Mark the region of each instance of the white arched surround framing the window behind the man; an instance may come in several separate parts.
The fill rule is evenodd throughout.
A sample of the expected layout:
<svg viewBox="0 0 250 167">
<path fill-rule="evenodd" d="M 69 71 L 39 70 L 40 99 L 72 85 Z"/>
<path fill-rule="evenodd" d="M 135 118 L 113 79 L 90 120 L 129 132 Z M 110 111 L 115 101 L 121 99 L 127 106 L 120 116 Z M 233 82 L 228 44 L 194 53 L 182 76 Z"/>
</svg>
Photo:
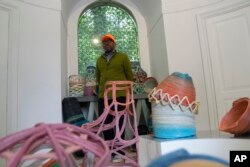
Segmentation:
<svg viewBox="0 0 250 167">
<path fill-rule="evenodd" d="M 78 74 L 78 43 L 77 43 L 77 28 L 78 28 L 78 18 L 82 11 L 86 9 L 89 5 L 96 2 L 95 0 L 90 0 L 88 3 L 79 2 L 71 14 L 67 22 L 67 74 L 75 75 Z M 133 6 L 133 4 L 128 3 L 126 0 L 120 0 L 119 3 L 125 6 L 134 16 L 137 22 L 138 28 L 138 46 L 139 46 L 139 57 L 140 65 L 151 75 L 150 70 L 150 57 L 149 57 L 149 47 L 148 47 L 148 34 L 147 34 L 147 24 L 140 10 Z"/>
</svg>

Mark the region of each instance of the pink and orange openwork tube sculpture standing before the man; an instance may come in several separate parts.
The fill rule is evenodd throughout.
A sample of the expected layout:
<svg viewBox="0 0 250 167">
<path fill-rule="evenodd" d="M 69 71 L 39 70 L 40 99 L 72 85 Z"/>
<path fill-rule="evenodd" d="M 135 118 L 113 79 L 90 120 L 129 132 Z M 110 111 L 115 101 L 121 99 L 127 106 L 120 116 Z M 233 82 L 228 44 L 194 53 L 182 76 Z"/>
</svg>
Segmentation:
<svg viewBox="0 0 250 167">
<path fill-rule="evenodd" d="M 116 101 L 116 92 L 123 91 L 126 94 L 126 102 L 119 103 Z M 112 102 L 108 104 L 108 99 L 112 99 Z M 106 141 L 110 147 L 111 154 L 119 155 L 124 159 L 125 166 L 139 166 L 138 155 L 135 158 L 128 156 L 128 148 L 132 145 L 136 145 L 138 153 L 138 141 L 139 135 L 137 131 L 136 112 L 133 97 L 133 82 L 131 81 L 109 81 L 105 85 L 104 91 L 104 112 L 95 121 L 84 124 L 82 127 L 88 129 L 96 134 L 100 135 L 103 131 L 108 129 L 115 130 L 115 137 L 112 140 Z M 118 105 L 125 106 L 124 110 L 117 111 Z M 114 110 L 112 110 L 114 108 Z M 110 114 L 114 117 L 113 121 L 109 124 L 105 124 L 107 115 Z M 124 118 L 123 125 L 119 127 L 119 120 Z M 125 127 L 132 134 L 131 139 L 123 139 L 121 136 L 125 132 Z M 121 152 L 124 153 L 121 154 Z"/>
</svg>

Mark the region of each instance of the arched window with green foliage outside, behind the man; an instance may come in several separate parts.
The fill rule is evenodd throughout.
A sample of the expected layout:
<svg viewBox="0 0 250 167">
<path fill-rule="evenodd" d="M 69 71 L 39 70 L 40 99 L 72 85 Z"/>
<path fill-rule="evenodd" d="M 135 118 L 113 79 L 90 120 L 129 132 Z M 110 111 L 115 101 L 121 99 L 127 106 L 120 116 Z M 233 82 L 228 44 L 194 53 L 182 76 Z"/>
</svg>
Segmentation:
<svg viewBox="0 0 250 167">
<path fill-rule="evenodd" d="M 111 33 L 116 49 L 126 53 L 131 62 L 139 62 L 138 31 L 135 19 L 124 6 L 114 2 L 97 2 L 88 6 L 78 20 L 78 73 L 85 75 L 87 66 L 95 66 L 102 53 L 99 39 Z"/>
</svg>

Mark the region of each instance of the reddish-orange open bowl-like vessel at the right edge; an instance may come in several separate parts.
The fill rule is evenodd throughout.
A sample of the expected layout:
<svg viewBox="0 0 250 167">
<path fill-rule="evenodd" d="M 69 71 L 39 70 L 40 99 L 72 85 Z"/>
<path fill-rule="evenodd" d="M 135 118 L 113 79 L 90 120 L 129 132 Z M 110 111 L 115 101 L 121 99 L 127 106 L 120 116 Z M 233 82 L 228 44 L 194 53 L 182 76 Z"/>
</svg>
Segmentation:
<svg viewBox="0 0 250 167">
<path fill-rule="evenodd" d="M 249 98 L 239 98 L 233 102 L 232 108 L 221 119 L 219 130 L 236 135 L 250 132 Z"/>
</svg>

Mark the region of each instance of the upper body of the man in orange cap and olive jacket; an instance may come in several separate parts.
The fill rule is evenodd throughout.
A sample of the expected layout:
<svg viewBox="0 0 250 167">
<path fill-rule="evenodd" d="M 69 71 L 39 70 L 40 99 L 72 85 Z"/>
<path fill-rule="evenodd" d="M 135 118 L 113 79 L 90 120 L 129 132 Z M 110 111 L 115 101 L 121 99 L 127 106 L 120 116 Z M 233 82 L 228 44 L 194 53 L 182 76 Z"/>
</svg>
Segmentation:
<svg viewBox="0 0 250 167">
<path fill-rule="evenodd" d="M 107 81 L 133 80 L 131 63 L 128 56 L 115 50 L 115 37 L 106 34 L 101 38 L 104 54 L 96 61 L 96 80 L 99 86 L 99 98 L 103 98 Z"/>
</svg>

